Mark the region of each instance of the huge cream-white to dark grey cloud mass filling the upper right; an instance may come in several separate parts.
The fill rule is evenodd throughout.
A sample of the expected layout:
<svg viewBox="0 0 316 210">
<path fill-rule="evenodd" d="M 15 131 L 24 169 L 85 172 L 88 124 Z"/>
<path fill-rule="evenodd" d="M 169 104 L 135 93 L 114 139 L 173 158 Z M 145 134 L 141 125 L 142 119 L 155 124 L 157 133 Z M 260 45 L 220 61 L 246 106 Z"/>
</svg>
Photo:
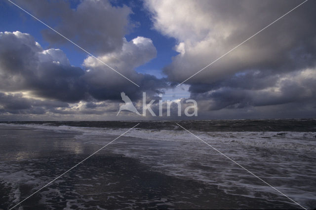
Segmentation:
<svg viewBox="0 0 316 210">
<path fill-rule="evenodd" d="M 151 13 L 154 28 L 178 42 L 175 50 L 179 54 L 164 73 L 171 82 L 180 83 L 299 3 L 183 0 L 179 5 L 169 0 L 146 0 L 145 8 Z M 296 111 L 303 106 L 315 111 L 315 6 L 314 1 L 306 2 L 189 79 L 186 84 L 190 85 L 191 98 L 199 101 L 199 110 L 239 113 L 253 107 L 292 104 Z M 283 112 L 286 117 L 288 112 Z"/>
</svg>

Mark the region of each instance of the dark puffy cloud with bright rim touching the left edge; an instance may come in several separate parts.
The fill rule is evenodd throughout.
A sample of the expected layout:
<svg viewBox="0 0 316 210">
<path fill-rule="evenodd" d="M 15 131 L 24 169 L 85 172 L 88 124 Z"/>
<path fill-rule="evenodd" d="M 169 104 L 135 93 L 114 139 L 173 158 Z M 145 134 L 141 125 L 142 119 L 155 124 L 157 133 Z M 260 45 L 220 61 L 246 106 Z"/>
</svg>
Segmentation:
<svg viewBox="0 0 316 210">
<path fill-rule="evenodd" d="M 0 46 L 2 91 L 29 90 L 40 97 L 65 102 L 84 97 L 84 71 L 62 63 L 66 57 L 63 53 L 51 57 L 52 51 L 60 50 L 43 51 L 32 36 L 20 32 L 0 33 Z"/>
</svg>

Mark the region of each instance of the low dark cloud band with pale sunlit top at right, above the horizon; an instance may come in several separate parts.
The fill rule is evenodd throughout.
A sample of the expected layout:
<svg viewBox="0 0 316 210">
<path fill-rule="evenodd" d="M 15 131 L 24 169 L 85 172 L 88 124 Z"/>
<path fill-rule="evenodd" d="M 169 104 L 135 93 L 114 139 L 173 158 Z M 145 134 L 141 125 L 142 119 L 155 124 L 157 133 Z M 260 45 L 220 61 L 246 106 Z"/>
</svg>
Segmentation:
<svg viewBox="0 0 316 210">
<path fill-rule="evenodd" d="M 244 108 L 250 106 L 283 105 L 287 103 L 316 104 L 316 72 L 305 70 L 287 75 L 288 79 L 278 80 L 278 85 L 271 89 L 255 89 L 256 85 L 242 85 L 246 80 L 242 77 L 230 82 L 223 81 L 217 86 L 191 86 L 191 97 L 198 101 L 209 100 L 207 109 Z M 269 77 L 266 78 L 269 83 Z M 260 79 L 259 79 L 260 81 Z M 273 81 L 273 85 L 276 81 Z M 236 86 L 237 85 L 237 86 Z M 209 91 L 205 91 L 209 90 Z"/>
</svg>

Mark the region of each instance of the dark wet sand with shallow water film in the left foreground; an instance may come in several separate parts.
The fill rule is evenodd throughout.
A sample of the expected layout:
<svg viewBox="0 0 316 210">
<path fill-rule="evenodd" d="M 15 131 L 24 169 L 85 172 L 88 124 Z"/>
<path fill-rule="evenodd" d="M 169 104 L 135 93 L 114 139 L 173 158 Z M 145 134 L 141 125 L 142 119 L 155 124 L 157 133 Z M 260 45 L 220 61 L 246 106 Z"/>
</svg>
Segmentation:
<svg viewBox="0 0 316 210">
<path fill-rule="evenodd" d="M 0 130 L 0 208 L 2 209 L 14 206 L 98 150 L 102 144 L 115 139 L 111 135 L 95 137 L 90 135 L 91 139 L 79 140 L 78 136 L 83 134 L 78 131 L 55 131 L 21 126 L 1 126 Z M 242 170 L 235 168 L 232 163 L 223 158 L 219 159 L 216 155 L 209 157 L 208 162 L 214 163 L 210 165 L 220 164 L 223 168 L 227 168 L 231 175 L 239 173 L 241 177 L 247 177 L 245 179 L 248 180 L 250 190 L 246 189 L 247 187 L 236 188 L 233 182 L 231 189 L 227 186 L 221 188 L 212 183 L 212 176 L 209 175 L 204 175 L 203 178 L 209 177 L 210 180 L 203 181 L 203 178 L 181 174 L 179 171 L 178 175 L 170 173 L 172 170 L 170 163 L 167 162 L 171 157 L 174 162 L 185 162 L 184 165 L 189 172 L 191 170 L 196 171 L 197 174 L 212 174 L 217 171 L 215 166 L 203 164 L 207 158 L 203 152 L 200 152 L 201 156 L 198 159 L 195 156 L 190 157 L 190 150 L 186 145 L 191 148 L 192 145 L 188 144 L 190 143 L 149 142 L 133 137 L 121 137 L 20 206 L 30 210 L 298 209 L 298 206 L 286 198 L 276 196 L 276 192 L 267 188 L 255 177 L 248 176 Z M 180 147 L 182 149 L 179 149 Z M 186 161 L 185 158 L 180 158 L 181 154 L 172 152 L 177 148 L 182 150 L 182 156 L 188 156 L 187 160 L 192 161 Z M 201 148 L 208 150 L 203 146 Z M 133 151 L 134 156 L 131 155 Z M 170 154 L 157 155 L 163 153 Z M 199 156 L 198 150 L 196 153 Z M 214 155 L 213 151 L 210 152 L 212 153 Z M 268 190 L 262 192 L 255 190 L 251 195 L 249 191 L 252 183 Z M 227 190 L 234 193 L 228 193 Z M 310 204 L 313 205 L 313 202 L 310 201 Z"/>
</svg>

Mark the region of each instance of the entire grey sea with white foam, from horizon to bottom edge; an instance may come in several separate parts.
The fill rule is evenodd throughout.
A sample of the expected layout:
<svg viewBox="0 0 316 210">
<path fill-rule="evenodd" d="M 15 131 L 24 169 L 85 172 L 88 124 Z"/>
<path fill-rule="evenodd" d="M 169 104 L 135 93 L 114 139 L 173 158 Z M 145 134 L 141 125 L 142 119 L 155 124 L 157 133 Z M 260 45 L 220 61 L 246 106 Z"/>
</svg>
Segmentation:
<svg viewBox="0 0 316 210">
<path fill-rule="evenodd" d="M 0 122 L 11 208 L 316 209 L 316 119 Z"/>
</svg>

